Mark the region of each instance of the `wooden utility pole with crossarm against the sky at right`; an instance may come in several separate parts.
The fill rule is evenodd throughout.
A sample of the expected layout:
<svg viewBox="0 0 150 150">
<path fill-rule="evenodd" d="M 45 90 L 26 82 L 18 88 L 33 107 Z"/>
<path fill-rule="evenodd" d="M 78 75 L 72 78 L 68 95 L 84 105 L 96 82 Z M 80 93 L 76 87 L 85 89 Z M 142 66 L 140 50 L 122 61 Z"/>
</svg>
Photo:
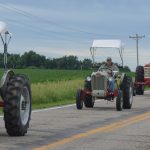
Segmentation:
<svg viewBox="0 0 150 150">
<path fill-rule="evenodd" d="M 137 66 L 139 66 L 139 47 L 138 47 L 139 46 L 139 40 L 142 38 L 145 38 L 145 35 L 139 36 L 138 34 L 136 34 L 135 36 L 129 36 L 129 38 L 136 40 Z"/>
</svg>

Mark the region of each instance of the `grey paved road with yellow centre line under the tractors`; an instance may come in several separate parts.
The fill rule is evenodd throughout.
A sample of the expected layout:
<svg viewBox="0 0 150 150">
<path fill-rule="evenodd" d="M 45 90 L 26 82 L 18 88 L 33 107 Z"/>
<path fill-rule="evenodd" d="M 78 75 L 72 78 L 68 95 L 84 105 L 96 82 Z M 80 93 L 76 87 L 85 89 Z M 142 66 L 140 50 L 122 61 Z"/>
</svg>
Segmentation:
<svg viewBox="0 0 150 150">
<path fill-rule="evenodd" d="M 75 105 L 32 113 L 28 134 L 9 137 L 0 118 L 0 150 L 150 150 L 150 92 L 134 97 L 133 108 L 115 103 L 93 109 Z"/>
</svg>

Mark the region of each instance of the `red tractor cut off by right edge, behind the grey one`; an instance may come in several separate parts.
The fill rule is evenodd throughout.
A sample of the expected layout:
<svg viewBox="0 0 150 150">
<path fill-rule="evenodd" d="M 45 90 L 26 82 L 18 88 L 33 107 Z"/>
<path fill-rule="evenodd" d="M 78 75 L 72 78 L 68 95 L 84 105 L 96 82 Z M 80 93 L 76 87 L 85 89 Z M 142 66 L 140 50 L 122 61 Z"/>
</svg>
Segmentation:
<svg viewBox="0 0 150 150">
<path fill-rule="evenodd" d="M 150 87 L 150 63 L 137 66 L 134 87 L 137 95 L 144 95 L 145 86 Z"/>
</svg>

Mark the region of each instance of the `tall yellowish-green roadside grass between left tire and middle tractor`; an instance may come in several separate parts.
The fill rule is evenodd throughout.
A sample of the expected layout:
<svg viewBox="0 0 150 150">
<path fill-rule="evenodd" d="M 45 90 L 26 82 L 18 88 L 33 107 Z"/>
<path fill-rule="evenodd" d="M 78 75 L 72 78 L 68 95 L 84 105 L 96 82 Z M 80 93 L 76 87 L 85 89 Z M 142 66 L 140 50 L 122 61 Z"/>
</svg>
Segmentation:
<svg viewBox="0 0 150 150">
<path fill-rule="evenodd" d="M 33 108 L 46 108 L 75 102 L 76 90 L 83 87 L 82 79 L 32 84 Z"/>
</svg>

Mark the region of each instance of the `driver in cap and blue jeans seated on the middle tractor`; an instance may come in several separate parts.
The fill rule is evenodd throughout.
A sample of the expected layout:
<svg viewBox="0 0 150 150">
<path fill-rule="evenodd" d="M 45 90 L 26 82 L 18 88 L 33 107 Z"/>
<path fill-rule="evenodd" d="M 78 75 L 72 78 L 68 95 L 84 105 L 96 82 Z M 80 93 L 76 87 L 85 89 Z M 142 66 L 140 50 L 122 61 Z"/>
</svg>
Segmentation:
<svg viewBox="0 0 150 150">
<path fill-rule="evenodd" d="M 99 69 L 102 69 L 102 68 L 108 68 L 112 71 L 119 71 L 119 68 L 112 62 L 111 57 L 107 57 L 106 63 L 101 65 L 101 67 Z M 114 90 L 115 90 L 115 80 L 114 80 L 114 75 L 112 74 L 109 77 L 108 91 L 114 92 Z"/>
</svg>

